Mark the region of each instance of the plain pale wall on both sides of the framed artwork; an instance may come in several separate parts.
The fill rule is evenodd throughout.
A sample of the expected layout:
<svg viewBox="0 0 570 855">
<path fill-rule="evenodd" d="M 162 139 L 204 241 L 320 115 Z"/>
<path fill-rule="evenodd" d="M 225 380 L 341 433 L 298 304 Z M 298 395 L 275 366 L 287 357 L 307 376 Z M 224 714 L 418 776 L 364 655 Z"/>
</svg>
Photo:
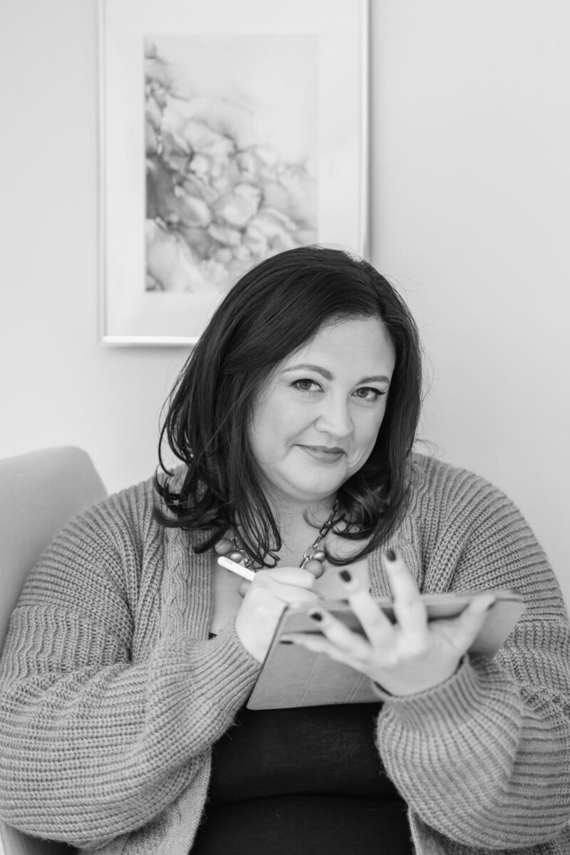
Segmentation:
<svg viewBox="0 0 570 855">
<path fill-rule="evenodd" d="M 0 456 L 82 445 L 115 490 L 185 351 L 97 343 L 95 0 L 2 0 L 0 32 Z M 422 435 L 514 498 L 570 603 L 570 8 L 373 0 L 371 55 L 371 260 L 432 363 Z"/>
</svg>

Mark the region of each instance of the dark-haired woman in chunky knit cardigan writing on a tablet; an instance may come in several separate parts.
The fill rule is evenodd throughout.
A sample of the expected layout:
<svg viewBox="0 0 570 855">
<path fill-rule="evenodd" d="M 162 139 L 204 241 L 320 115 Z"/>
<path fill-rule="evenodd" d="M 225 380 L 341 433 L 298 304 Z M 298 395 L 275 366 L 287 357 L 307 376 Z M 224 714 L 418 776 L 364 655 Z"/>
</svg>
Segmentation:
<svg viewBox="0 0 570 855">
<path fill-rule="evenodd" d="M 26 582 L 0 816 L 105 855 L 570 851 L 561 593 L 501 492 L 413 453 L 420 374 L 366 262 L 305 247 L 244 275 L 170 398 L 182 465 L 76 518 Z M 467 652 L 492 596 L 428 624 L 418 593 L 497 587 L 527 608 L 492 662 Z M 372 600 L 390 591 L 395 626 Z M 338 596 L 366 639 L 327 613 Z M 377 704 L 244 709 L 291 603 L 322 630 L 294 640 Z"/>
</svg>

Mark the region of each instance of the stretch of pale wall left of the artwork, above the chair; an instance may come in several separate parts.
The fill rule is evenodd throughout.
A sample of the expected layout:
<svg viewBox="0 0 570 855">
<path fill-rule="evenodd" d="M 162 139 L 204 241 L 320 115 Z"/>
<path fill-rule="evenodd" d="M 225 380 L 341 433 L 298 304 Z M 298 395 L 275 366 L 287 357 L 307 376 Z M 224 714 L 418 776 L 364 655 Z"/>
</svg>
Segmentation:
<svg viewBox="0 0 570 855">
<path fill-rule="evenodd" d="M 0 456 L 73 443 L 148 477 L 180 349 L 97 341 L 95 0 L 0 3 Z"/>
</svg>

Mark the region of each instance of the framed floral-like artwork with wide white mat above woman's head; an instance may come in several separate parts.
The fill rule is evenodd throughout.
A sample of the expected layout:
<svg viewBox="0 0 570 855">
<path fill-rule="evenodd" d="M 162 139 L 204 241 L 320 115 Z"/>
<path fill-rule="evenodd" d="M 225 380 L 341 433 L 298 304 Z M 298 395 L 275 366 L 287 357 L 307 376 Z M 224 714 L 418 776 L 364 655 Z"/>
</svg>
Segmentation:
<svg viewBox="0 0 570 855">
<path fill-rule="evenodd" d="M 238 277 L 367 252 L 367 0 L 98 0 L 101 340 L 191 345 Z"/>
</svg>

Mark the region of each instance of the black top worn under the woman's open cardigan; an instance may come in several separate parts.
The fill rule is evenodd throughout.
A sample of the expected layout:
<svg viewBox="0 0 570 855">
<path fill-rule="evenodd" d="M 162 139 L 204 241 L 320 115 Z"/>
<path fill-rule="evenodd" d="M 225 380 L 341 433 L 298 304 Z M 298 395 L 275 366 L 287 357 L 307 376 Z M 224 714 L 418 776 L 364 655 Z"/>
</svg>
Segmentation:
<svg viewBox="0 0 570 855">
<path fill-rule="evenodd" d="M 380 704 L 247 710 L 214 745 L 192 855 L 411 855 L 374 745 Z"/>
</svg>

